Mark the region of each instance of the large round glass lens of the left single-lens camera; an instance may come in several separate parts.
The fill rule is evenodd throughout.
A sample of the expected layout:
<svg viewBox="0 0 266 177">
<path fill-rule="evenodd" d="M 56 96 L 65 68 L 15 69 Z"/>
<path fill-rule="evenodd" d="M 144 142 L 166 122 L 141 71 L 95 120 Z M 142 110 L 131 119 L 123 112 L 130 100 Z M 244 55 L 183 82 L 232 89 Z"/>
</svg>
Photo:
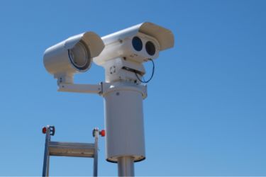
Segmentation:
<svg viewBox="0 0 266 177">
<path fill-rule="evenodd" d="M 72 49 L 69 50 L 70 61 L 77 69 L 87 69 L 91 62 L 89 50 L 83 42 L 79 41 Z"/>
</svg>

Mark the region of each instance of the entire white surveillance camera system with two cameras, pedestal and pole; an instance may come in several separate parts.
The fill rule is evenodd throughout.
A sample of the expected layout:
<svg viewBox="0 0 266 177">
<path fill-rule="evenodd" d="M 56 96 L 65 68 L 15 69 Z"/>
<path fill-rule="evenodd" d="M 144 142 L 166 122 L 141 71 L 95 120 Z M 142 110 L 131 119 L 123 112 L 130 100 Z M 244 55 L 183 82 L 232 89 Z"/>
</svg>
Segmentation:
<svg viewBox="0 0 266 177">
<path fill-rule="evenodd" d="M 82 33 L 45 51 L 45 68 L 59 79 L 58 91 L 104 97 L 106 160 L 118 163 L 119 176 L 133 176 L 133 163 L 145 159 L 143 99 L 147 85 L 143 83 L 147 82 L 141 80 L 143 63 L 153 62 L 162 50 L 173 46 L 170 30 L 146 22 L 102 38 Z M 73 84 L 73 74 L 86 72 L 92 60 L 104 67 L 105 81 Z"/>
</svg>

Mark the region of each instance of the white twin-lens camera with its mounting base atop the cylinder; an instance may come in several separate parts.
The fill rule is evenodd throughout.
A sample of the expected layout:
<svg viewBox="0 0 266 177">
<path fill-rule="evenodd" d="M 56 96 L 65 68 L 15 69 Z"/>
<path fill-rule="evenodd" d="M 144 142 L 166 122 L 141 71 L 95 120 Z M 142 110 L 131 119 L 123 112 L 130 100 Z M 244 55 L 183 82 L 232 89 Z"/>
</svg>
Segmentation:
<svg viewBox="0 0 266 177">
<path fill-rule="evenodd" d="M 106 82 L 134 81 L 143 76 L 143 62 L 156 59 L 159 52 L 174 46 L 170 30 L 154 23 L 140 23 L 101 38 L 104 50 L 93 61 L 105 68 Z"/>
</svg>

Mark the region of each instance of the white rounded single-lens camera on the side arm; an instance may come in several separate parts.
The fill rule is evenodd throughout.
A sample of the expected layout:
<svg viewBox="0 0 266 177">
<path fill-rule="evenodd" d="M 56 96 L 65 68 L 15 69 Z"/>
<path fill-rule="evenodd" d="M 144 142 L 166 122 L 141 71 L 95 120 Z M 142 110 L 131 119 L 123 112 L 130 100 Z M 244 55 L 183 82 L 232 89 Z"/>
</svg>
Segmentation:
<svg viewBox="0 0 266 177">
<path fill-rule="evenodd" d="M 103 49 L 104 42 L 99 35 L 86 32 L 49 47 L 44 52 L 43 64 L 58 79 L 58 83 L 72 84 L 73 75 L 86 72 L 92 64 L 92 58 L 98 56 Z"/>
</svg>

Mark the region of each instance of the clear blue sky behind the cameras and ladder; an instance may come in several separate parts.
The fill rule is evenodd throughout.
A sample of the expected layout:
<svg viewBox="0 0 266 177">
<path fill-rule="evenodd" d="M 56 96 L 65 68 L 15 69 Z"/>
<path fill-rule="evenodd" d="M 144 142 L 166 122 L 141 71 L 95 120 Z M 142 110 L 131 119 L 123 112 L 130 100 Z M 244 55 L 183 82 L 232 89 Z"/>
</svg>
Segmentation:
<svg viewBox="0 0 266 177">
<path fill-rule="evenodd" d="M 40 176 L 45 135 L 93 142 L 103 98 L 57 92 L 43 52 L 71 35 L 150 21 L 175 45 L 155 60 L 136 176 L 266 176 L 266 1 L 1 1 L 0 175 Z M 148 78 L 150 65 L 147 67 Z M 96 64 L 77 83 L 104 81 Z M 116 176 L 99 139 L 99 175 Z M 52 157 L 51 176 L 90 176 L 92 159 Z"/>
</svg>

